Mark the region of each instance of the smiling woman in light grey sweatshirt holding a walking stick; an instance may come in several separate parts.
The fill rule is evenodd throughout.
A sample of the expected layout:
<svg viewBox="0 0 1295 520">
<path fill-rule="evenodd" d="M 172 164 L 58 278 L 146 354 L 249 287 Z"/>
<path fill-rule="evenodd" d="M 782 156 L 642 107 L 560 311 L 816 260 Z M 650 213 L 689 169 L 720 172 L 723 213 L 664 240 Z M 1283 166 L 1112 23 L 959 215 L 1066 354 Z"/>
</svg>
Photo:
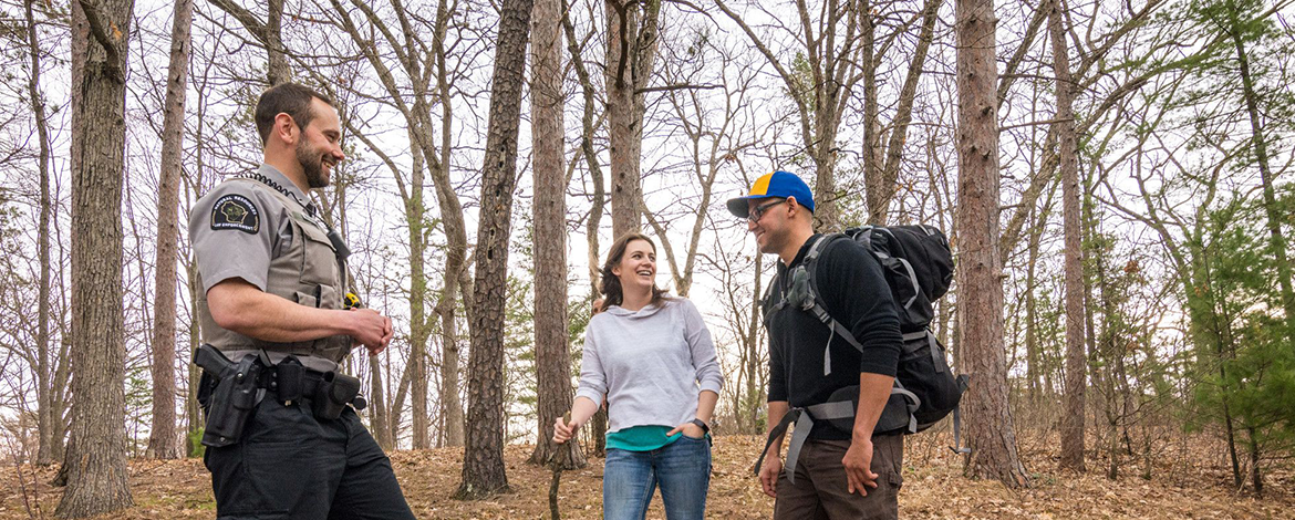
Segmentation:
<svg viewBox="0 0 1295 520">
<path fill-rule="evenodd" d="M 641 234 L 616 239 L 602 265 L 603 303 L 589 320 L 580 388 L 566 442 L 607 398 L 602 515 L 642 519 L 660 485 L 666 517 L 698 520 L 711 482 L 711 414 L 724 376 L 711 332 L 692 301 L 657 288 L 657 246 Z"/>
</svg>

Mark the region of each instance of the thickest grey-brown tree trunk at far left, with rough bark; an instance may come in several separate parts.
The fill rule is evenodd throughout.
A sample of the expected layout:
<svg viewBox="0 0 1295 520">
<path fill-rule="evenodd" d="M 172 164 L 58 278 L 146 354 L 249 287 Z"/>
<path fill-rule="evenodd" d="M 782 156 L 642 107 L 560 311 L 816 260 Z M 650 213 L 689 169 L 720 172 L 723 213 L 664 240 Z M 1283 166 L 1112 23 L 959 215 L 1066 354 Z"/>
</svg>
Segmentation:
<svg viewBox="0 0 1295 520">
<path fill-rule="evenodd" d="M 73 3 L 73 433 L 60 517 L 130 507 L 122 177 L 132 0 Z"/>
</svg>

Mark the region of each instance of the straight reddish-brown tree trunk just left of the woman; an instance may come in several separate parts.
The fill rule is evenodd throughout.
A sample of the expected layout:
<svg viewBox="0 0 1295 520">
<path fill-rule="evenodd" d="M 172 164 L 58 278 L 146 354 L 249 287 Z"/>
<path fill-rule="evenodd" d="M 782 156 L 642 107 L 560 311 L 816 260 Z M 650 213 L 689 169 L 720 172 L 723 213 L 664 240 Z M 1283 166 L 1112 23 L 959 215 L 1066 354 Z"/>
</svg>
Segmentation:
<svg viewBox="0 0 1295 520">
<path fill-rule="evenodd" d="M 535 176 L 535 371 L 537 436 L 532 464 L 557 457 L 584 466 L 575 441 L 553 442 L 553 423 L 571 409 L 567 343 L 566 146 L 562 109 L 562 0 L 536 0 L 531 28 L 531 150 Z"/>
</svg>

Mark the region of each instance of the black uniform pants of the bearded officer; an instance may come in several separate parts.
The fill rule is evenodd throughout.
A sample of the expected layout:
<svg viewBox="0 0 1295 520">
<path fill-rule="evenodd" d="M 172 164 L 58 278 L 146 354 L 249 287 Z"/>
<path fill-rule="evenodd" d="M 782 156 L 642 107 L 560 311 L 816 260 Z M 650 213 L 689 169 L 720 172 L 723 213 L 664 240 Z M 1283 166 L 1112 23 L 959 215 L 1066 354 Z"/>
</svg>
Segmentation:
<svg viewBox="0 0 1295 520">
<path fill-rule="evenodd" d="M 218 520 L 413 519 L 387 458 L 350 406 L 316 419 L 308 400 L 256 405 L 243 439 L 207 448 Z"/>
</svg>

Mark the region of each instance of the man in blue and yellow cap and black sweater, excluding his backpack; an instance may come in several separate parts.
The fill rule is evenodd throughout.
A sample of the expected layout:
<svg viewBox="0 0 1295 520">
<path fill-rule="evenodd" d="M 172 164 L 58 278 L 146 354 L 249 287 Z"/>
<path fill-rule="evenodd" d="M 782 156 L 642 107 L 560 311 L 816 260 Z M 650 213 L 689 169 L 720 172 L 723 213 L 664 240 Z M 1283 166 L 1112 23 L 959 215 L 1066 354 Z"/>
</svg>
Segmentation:
<svg viewBox="0 0 1295 520">
<path fill-rule="evenodd" d="M 903 431 L 875 427 L 904 343 L 896 304 L 873 254 L 813 233 L 813 207 L 809 186 L 782 171 L 728 200 L 760 252 L 781 260 L 763 303 L 771 433 L 756 470 L 776 520 L 895 519 Z M 816 314 L 824 309 L 830 320 Z M 791 422 L 783 471 L 778 454 Z"/>
</svg>

